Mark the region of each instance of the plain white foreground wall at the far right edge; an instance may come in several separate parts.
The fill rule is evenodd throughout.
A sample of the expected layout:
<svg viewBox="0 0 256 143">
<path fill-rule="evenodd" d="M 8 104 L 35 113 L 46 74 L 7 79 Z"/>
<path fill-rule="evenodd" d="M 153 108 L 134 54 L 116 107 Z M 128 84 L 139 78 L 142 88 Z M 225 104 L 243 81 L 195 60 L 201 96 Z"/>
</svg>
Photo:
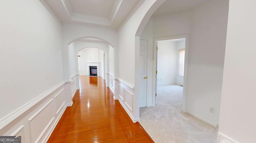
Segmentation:
<svg viewBox="0 0 256 143">
<path fill-rule="evenodd" d="M 230 0 L 218 142 L 256 141 L 256 1 Z"/>
</svg>

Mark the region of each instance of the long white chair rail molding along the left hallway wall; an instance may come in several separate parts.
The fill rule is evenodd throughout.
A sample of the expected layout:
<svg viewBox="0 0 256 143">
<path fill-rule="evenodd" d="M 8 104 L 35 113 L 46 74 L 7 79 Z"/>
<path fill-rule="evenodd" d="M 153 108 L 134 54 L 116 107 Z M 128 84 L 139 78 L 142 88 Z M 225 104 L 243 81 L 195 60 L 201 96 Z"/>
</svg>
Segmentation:
<svg viewBox="0 0 256 143">
<path fill-rule="evenodd" d="M 18 118 L 20 116 L 24 116 L 24 114 L 26 112 L 28 112 L 29 109 L 31 109 L 32 107 L 34 107 L 36 104 L 38 104 L 38 102 L 40 102 L 41 100 L 43 100 L 44 98 L 46 98 L 47 96 L 49 96 L 52 92 L 54 92 L 55 90 L 57 90 L 58 88 L 60 88 L 61 86 L 63 86 L 65 84 L 65 81 L 60 82 L 59 84 L 57 84 L 56 86 L 54 86 L 53 88 L 50 88 L 49 90 L 47 90 L 46 92 L 40 94 L 39 96 L 37 96 L 36 98 L 34 98 L 33 100 L 31 100 L 30 102 L 28 102 L 27 104 L 24 104 L 23 106 L 21 106 L 20 108 L 14 110 L 13 112 L 11 112 L 10 114 L 8 114 L 7 116 L 5 116 L 4 118 L 2 118 L 0 120 L 0 132 L 2 132 L 3 130 L 5 130 L 5 127 L 7 125 L 9 125 L 10 123 L 12 123 L 13 121 L 18 121 Z"/>
</svg>

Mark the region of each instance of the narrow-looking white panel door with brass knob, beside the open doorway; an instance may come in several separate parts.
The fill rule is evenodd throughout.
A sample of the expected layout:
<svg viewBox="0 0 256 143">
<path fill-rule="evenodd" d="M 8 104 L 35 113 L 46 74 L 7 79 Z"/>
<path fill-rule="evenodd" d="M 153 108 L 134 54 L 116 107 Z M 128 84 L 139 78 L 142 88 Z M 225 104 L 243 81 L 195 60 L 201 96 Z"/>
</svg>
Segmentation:
<svg viewBox="0 0 256 143">
<path fill-rule="evenodd" d="M 148 40 L 140 39 L 140 108 L 147 106 Z"/>
</svg>

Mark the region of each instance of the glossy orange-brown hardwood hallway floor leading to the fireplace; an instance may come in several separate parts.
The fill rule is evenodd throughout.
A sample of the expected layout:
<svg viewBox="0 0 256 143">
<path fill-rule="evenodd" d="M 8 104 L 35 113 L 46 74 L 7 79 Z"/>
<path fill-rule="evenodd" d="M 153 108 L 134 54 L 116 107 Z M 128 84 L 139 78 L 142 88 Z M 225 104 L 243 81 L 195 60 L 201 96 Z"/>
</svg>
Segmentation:
<svg viewBox="0 0 256 143">
<path fill-rule="evenodd" d="M 101 77 L 80 76 L 80 91 L 66 108 L 48 143 L 152 143 L 133 123 Z"/>
</svg>

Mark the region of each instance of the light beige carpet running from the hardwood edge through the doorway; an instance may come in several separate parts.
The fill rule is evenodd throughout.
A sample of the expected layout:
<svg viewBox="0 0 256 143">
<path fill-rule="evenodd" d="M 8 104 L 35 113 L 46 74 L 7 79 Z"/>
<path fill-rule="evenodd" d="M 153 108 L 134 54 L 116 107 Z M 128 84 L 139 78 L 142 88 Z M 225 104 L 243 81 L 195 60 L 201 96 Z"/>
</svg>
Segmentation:
<svg viewBox="0 0 256 143">
<path fill-rule="evenodd" d="M 158 86 L 156 106 L 140 108 L 139 123 L 155 143 L 216 143 L 216 128 L 182 112 L 182 90 Z"/>
</svg>

